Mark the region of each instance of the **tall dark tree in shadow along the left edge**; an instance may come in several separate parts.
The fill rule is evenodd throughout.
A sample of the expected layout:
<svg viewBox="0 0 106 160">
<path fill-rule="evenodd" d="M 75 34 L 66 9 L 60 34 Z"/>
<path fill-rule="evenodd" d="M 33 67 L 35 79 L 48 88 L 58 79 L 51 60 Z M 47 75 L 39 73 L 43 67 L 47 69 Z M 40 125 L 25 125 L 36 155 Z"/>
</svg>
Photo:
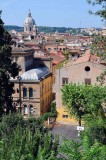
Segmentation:
<svg viewBox="0 0 106 160">
<path fill-rule="evenodd" d="M 3 113 L 8 114 L 10 111 L 14 111 L 12 106 L 14 90 L 13 84 L 10 83 L 10 77 L 15 78 L 19 69 L 17 64 L 12 62 L 11 44 L 11 36 L 4 29 L 0 13 L 0 116 Z"/>
</svg>

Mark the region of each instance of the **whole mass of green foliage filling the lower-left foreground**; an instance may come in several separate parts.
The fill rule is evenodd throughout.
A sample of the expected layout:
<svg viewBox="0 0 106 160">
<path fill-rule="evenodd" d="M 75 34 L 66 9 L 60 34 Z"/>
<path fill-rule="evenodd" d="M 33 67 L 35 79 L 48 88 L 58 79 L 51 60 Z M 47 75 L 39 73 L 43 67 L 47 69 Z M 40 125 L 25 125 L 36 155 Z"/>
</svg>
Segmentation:
<svg viewBox="0 0 106 160">
<path fill-rule="evenodd" d="M 0 131 L 1 160 L 52 160 L 58 153 L 58 137 L 43 130 L 41 119 L 8 115 L 1 119 Z"/>
</svg>

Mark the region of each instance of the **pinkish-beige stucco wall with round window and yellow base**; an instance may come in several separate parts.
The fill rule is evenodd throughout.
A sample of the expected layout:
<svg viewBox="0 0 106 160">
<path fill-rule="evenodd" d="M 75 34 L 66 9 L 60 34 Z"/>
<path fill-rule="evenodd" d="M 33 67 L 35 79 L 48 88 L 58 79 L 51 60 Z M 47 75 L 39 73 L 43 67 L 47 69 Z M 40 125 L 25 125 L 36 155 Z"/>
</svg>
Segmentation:
<svg viewBox="0 0 106 160">
<path fill-rule="evenodd" d="M 89 66 L 90 71 L 85 71 L 85 67 Z M 75 65 L 69 65 L 63 68 L 60 68 L 56 71 L 56 107 L 59 112 L 57 121 L 59 122 L 73 122 L 72 119 L 62 118 L 64 114 L 65 107 L 62 104 L 61 99 L 61 88 L 62 88 L 62 78 L 68 78 L 68 83 L 83 83 L 85 84 L 85 79 L 91 79 L 91 84 L 97 84 L 96 78 L 106 69 L 106 66 L 101 64 L 95 64 L 91 62 L 84 62 Z"/>
</svg>

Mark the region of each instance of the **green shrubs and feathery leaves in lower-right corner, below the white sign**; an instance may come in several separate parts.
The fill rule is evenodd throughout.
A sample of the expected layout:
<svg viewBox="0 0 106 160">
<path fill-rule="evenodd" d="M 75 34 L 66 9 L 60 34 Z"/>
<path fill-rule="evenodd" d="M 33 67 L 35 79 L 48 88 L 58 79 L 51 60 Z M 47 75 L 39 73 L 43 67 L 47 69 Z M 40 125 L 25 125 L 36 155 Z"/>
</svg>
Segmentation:
<svg viewBox="0 0 106 160">
<path fill-rule="evenodd" d="M 106 119 L 90 116 L 79 141 L 66 139 L 60 147 L 62 160 L 104 160 L 106 157 Z"/>
</svg>

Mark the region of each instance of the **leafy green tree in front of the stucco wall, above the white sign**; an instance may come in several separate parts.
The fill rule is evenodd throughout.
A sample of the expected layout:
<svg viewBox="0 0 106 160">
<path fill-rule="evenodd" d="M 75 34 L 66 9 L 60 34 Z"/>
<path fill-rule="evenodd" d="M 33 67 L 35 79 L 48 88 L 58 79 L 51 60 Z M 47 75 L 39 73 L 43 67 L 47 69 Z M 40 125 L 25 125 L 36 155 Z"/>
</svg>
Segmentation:
<svg viewBox="0 0 106 160">
<path fill-rule="evenodd" d="M 106 87 L 67 84 L 62 88 L 62 101 L 69 114 L 79 120 L 88 113 L 104 114 L 102 103 L 106 99 Z"/>
</svg>

